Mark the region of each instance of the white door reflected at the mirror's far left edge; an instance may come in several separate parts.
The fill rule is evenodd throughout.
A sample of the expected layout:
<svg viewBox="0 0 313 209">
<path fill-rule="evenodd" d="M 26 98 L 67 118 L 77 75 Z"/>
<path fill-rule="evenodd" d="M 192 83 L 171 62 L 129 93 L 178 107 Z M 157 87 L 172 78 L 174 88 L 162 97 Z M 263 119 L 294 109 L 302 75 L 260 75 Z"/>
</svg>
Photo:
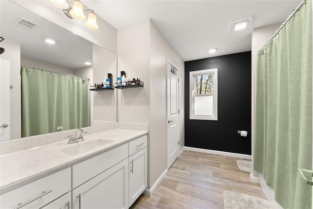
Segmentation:
<svg viewBox="0 0 313 209">
<path fill-rule="evenodd" d="M 0 59 L 0 141 L 10 139 L 10 61 Z"/>
</svg>

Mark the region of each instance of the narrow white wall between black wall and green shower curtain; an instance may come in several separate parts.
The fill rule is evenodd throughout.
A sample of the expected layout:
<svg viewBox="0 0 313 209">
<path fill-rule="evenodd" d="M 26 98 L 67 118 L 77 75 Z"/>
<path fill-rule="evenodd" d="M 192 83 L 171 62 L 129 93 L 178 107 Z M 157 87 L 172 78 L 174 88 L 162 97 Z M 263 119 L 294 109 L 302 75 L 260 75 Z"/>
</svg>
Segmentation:
<svg viewBox="0 0 313 209">
<path fill-rule="evenodd" d="M 280 27 L 281 23 L 271 24 L 264 27 L 254 28 L 252 31 L 252 72 L 251 72 L 251 156 L 253 162 L 254 154 L 254 137 L 255 137 L 255 103 L 256 103 L 256 64 L 257 53 L 266 44 L 276 29 Z M 253 171 L 253 177 L 258 177 L 258 173 Z"/>
</svg>

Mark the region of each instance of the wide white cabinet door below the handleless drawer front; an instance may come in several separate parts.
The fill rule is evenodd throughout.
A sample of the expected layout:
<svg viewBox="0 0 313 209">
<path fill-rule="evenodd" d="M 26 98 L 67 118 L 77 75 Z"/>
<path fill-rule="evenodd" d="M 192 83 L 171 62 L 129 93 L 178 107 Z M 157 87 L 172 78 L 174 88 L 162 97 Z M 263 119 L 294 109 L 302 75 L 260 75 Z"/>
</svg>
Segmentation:
<svg viewBox="0 0 313 209">
<path fill-rule="evenodd" d="M 73 190 L 73 209 L 128 209 L 128 159 Z"/>
</svg>

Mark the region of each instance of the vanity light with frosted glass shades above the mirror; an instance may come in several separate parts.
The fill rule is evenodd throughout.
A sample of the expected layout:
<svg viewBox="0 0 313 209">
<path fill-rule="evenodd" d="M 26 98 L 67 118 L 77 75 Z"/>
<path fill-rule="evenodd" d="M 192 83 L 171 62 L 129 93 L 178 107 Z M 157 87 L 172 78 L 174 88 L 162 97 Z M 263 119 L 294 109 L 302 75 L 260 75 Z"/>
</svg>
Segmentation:
<svg viewBox="0 0 313 209">
<path fill-rule="evenodd" d="M 94 14 L 94 11 L 91 9 L 84 10 L 84 6 L 80 0 L 75 0 L 73 7 L 68 5 L 67 0 L 50 0 L 50 1 L 55 6 L 57 6 L 55 2 L 65 1 L 67 3 L 68 7 L 64 8 L 63 11 L 66 14 L 66 16 L 70 19 L 86 20 L 86 16 L 85 16 L 84 12 L 91 11 L 88 15 L 88 19 L 85 22 L 85 25 L 87 27 L 89 27 L 90 29 L 94 29 L 94 30 L 99 28 L 99 26 L 97 24 L 97 17 Z M 59 6 L 57 6 L 57 7 L 59 7 Z M 61 7 L 59 7 L 59 8 L 61 8 Z"/>
</svg>

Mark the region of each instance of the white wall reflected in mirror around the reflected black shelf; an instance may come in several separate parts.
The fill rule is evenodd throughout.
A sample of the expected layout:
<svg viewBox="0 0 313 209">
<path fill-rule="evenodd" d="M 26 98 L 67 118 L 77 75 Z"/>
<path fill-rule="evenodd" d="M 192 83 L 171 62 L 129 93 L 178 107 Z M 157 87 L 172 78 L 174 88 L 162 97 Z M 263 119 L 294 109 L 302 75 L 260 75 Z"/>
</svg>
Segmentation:
<svg viewBox="0 0 313 209">
<path fill-rule="evenodd" d="M 116 78 L 116 54 L 96 44 L 92 45 L 92 77 L 94 83 L 102 83 L 112 73 L 113 83 Z M 115 93 L 114 93 L 115 92 Z M 91 93 L 92 118 L 90 121 L 116 121 L 116 90 L 106 90 Z"/>
</svg>

